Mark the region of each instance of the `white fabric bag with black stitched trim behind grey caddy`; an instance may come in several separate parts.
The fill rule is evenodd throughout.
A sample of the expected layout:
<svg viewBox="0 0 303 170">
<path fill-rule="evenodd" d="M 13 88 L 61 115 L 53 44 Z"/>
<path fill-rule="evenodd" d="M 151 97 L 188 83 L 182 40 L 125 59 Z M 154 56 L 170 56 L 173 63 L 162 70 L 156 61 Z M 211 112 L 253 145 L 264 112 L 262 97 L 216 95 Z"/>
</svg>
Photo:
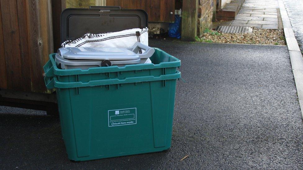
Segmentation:
<svg viewBox="0 0 303 170">
<path fill-rule="evenodd" d="M 148 28 L 133 28 L 119 32 L 91 34 L 87 33 L 83 37 L 73 41 L 65 41 L 62 47 L 118 47 L 130 48 L 136 42 L 141 42 L 148 46 Z M 139 51 L 142 53 L 142 51 Z M 145 63 L 152 63 L 147 59 Z"/>
</svg>

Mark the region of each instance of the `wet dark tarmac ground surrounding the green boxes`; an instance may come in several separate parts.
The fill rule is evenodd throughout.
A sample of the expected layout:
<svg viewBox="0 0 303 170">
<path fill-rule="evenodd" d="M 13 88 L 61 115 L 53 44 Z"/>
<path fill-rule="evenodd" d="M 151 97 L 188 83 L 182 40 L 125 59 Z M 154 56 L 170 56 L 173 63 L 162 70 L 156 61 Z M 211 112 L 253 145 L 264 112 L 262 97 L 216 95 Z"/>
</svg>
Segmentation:
<svg viewBox="0 0 303 170">
<path fill-rule="evenodd" d="M 286 46 L 154 39 L 150 46 L 182 63 L 169 150 L 71 162 L 57 117 L 0 107 L 0 169 L 303 167 L 303 123 Z"/>
</svg>

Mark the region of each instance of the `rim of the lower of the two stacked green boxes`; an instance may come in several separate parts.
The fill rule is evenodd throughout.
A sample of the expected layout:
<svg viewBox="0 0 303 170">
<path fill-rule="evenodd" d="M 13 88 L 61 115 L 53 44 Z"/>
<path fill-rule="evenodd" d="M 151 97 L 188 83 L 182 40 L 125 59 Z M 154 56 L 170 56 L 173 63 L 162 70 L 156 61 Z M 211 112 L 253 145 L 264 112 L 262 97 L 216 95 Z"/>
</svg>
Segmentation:
<svg viewBox="0 0 303 170">
<path fill-rule="evenodd" d="M 139 77 L 127 77 L 123 80 L 113 78 L 107 80 L 93 80 L 88 81 L 86 83 L 83 82 L 61 82 L 58 81 L 57 77 L 49 78 L 45 77 L 45 85 L 47 89 L 52 88 L 75 88 L 75 87 L 88 87 L 88 86 L 98 86 L 98 85 L 115 85 L 115 84 L 124 84 L 124 83 L 138 83 L 138 82 L 145 82 L 145 81 L 159 81 L 159 80 L 172 80 L 172 79 L 179 79 L 181 77 L 181 73 L 177 71 L 173 74 L 166 74 L 161 76 L 139 76 Z"/>
</svg>

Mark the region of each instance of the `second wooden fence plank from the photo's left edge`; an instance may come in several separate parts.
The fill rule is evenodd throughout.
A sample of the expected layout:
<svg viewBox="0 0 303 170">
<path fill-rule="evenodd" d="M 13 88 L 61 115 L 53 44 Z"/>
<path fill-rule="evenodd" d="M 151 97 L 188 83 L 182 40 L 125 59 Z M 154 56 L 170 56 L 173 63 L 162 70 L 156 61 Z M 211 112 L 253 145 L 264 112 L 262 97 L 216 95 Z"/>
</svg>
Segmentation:
<svg viewBox="0 0 303 170">
<path fill-rule="evenodd" d="M 7 37 L 4 39 L 7 88 L 23 90 L 16 1 L 1 0 L 1 12 L 3 35 Z"/>
</svg>

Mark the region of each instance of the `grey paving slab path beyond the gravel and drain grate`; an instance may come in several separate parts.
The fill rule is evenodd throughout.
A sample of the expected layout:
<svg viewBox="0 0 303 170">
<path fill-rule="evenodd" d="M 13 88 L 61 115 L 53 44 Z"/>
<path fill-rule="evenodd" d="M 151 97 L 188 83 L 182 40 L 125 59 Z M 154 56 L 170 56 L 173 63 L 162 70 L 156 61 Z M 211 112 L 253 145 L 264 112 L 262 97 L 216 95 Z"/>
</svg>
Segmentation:
<svg viewBox="0 0 303 170">
<path fill-rule="evenodd" d="M 278 29 L 277 0 L 245 0 L 230 26 Z"/>
</svg>

